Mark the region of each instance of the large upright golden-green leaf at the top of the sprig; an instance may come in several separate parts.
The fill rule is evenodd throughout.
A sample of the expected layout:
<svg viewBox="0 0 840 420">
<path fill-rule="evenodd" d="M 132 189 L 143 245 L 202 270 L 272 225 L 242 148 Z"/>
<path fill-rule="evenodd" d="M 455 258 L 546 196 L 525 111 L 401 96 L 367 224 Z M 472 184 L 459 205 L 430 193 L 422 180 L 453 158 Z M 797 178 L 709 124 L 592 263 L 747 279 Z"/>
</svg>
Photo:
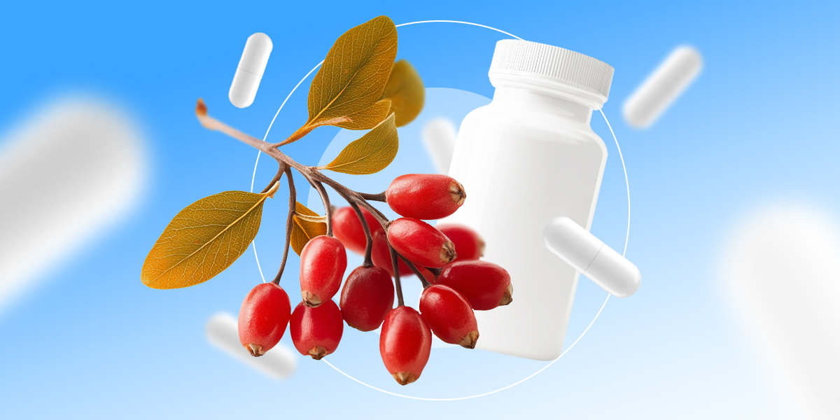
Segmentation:
<svg viewBox="0 0 840 420">
<path fill-rule="evenodd" d="M 380 123 L 391 109 L 380 97 L 395 57 L 396 26 L 387 16 L 341 35 L 312 79 L 304 128 L 371 129 Z"/>
</svg>

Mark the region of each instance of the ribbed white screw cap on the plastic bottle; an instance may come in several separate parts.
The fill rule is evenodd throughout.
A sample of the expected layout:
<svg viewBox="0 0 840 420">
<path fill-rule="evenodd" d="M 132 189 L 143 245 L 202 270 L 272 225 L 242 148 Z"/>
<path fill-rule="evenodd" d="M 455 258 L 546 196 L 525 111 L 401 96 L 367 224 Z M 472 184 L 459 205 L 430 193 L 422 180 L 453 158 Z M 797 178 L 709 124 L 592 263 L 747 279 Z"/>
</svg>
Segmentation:
<svg viewBox="0 0 840 420">
<path fill-rule="evenodd" d="M 541 76 L 603 97 L 610 94 L 612 66 L 572 50 L 519 39 L 496 43 L 490 76 Z"/>
</svg>

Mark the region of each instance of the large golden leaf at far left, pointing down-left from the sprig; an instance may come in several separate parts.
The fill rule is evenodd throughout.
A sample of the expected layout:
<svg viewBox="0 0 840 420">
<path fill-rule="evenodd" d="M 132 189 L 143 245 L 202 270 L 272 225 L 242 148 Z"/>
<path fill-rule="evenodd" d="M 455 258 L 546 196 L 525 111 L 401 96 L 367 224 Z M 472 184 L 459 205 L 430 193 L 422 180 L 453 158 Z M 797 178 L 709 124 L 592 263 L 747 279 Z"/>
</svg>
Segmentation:
<svg viewBox="0 0 840 420">
<path fill-rule="evenodd" d="M 260 230 L 265 194 L 228 191 L 193 202 L 160 234 L 140 280 L 154 289 L 195 286 L 212 279 L 248 249 Z"/>
</svg>

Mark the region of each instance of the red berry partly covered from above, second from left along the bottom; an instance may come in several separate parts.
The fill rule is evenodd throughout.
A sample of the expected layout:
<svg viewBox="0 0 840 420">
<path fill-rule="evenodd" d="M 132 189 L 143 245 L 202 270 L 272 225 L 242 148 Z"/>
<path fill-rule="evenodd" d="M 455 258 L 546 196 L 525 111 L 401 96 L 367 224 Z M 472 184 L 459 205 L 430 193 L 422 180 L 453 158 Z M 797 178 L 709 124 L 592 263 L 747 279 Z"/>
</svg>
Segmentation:
<svg viewBox="0 0 840 420">
<path fill-rule="evenodd" d="M 341 310 L 332 300 L 318 307 L 307 307 L 300 302 L 295 312 L 291 312 L 289 333 L 297 351 L 320 360 L 339 347 L 341 334 L 344 333 Z"/>
</svg>

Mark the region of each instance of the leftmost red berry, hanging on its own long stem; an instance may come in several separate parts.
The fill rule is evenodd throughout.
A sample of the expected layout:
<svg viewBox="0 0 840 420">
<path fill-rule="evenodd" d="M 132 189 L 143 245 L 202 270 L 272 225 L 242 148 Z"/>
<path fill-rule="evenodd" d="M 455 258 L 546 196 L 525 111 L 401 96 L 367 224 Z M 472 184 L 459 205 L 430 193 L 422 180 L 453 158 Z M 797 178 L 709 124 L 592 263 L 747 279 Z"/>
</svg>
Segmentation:
<svg viewBox="0 0 840 420">
<path fill-rule="evenodd" d="M 239 308 L 239 343 L 254 357 L 265 354 L 283 338 L 290 317 L 289 296 L 281 286 L 257 285 Z"/>
</svg>

